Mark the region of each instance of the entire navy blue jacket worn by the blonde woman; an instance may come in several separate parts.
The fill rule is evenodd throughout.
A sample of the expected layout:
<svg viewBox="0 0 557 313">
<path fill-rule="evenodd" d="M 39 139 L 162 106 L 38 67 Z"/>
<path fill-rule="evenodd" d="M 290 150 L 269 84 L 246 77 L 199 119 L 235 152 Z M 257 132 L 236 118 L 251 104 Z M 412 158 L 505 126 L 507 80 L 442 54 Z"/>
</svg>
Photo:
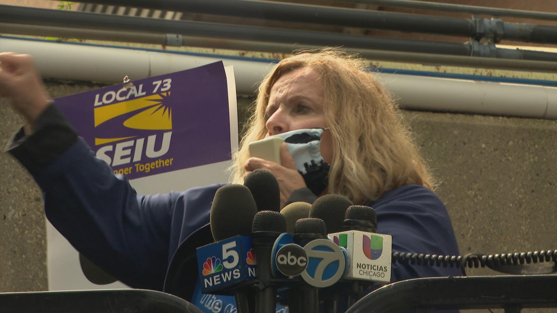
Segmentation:
<svg viewBox="0 0 557 313">
<path fill-rule="evenodd" d="M 33 162 L 29 155 L 37 154 L 37 146 L 45 142 L 39 138 L 41 131 L 50 127 L 52 137 L 58 126 L 38 125 L 37 134 L 16 135 L 8 144 L 8 151 L 42 189 L 48 220 L 78 251 L 122 282 L 134 288 L 163 290 L 180 244 L 194 248 L 207 243 L 207 238 L 192 234 L 209 223 L 211 202 L 222 184 L 139 195 L 125 177 L 114 175 L 108 164 L 97 159 L 82 139 L 58 147 L 60 153 L 53 153 L 38 166 L 40 162 Z M 60 136 L 66 134 L 62 131 Z M 60 136 L 52 140 L 58 143 Z M 377 232 L 392 236 L 393 251 L 458 255 L 447 210 L 431 190 L 406 185 L 369 205 L 377 212 Z M 186 256 L 194 250 L 188 251 Z M 182 275 L 195 280 L 197 271 Z M 459 275 L 457 268 L 395 263 L 391 281 Z"/>
</svg>

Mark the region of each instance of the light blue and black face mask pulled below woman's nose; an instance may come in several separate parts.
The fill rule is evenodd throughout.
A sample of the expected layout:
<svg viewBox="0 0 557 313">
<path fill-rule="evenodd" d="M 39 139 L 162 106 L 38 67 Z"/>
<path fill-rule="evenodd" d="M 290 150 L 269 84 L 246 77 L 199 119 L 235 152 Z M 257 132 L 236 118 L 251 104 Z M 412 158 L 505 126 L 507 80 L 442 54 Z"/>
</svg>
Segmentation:
<svg viewBox="0 0 557 313">
<path fill-rule="evenodd" d="M 307 188 L 319 195 L 327 187 L 330 165 L 321 156 L 321 134 L 326 129 L 298 129 L 274 135 L 284 139 Z"/>
</svg>

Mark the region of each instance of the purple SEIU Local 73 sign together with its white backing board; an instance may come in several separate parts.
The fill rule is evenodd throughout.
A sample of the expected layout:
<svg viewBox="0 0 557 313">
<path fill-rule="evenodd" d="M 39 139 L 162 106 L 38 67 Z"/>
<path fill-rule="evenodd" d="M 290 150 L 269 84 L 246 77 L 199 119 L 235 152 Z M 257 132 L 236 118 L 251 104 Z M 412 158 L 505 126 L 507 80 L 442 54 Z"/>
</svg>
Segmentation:
<svg viewBox="0 0 557 313">
<path fill-rule="evenodd" d="M 97 158 L 130 179 L 140 194 L 227 182 L 226 168 L 238 147 L 232 67 L 216 62 L 130 79 L 55 99 L 55 105 Z M 77 251 L 50 223 L 47 267 L 50 290 L 126 287 L 89 282 Z"/>
</svg>

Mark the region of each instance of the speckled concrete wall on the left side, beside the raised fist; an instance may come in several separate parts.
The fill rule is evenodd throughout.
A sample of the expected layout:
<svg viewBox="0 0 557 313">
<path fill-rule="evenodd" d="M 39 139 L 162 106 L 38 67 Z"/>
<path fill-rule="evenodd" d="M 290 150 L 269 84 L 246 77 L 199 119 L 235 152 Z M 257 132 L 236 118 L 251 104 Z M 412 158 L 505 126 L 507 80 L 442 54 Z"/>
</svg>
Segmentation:
<svg viewBox="0 0 557 313">
<path fill-rule="evenodd" d="M 52 97 L 100 86 L 48 86 Z M 22 119 L 0 99 L 0 146 Z M 7 153 L 0 154 L 0 292 L 47 290 L 45 213 L 35 180 Z"/>
</svg>

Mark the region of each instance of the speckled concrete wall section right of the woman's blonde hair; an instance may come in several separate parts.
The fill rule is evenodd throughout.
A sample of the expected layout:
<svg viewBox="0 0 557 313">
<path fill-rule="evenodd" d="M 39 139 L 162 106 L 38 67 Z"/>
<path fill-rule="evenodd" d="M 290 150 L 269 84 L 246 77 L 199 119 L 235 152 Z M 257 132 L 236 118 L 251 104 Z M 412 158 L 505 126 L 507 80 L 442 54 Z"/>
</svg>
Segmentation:
<svg viewBox="0 0 557 313">
<path fill-rule="evenodd" d="M 407 111 L 461 254 L 557 248 L 557 124 Z M 472 270 L 474 275 L 494 275 Z"/>
</svg>

